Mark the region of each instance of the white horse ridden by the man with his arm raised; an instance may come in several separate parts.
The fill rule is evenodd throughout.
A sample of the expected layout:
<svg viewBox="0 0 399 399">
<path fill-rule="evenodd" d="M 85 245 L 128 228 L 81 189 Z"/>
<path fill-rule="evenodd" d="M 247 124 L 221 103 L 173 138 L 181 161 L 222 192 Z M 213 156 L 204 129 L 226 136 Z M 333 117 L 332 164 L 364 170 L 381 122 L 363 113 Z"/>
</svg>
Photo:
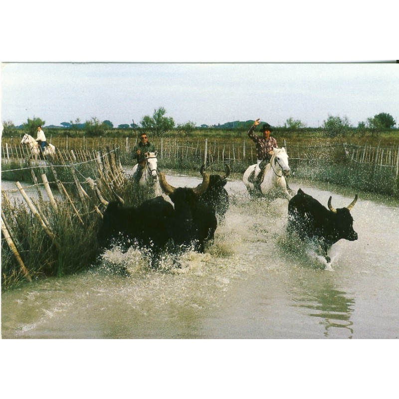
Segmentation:
<svg viewBox="0 0 399 399">
<path fill-rule="evenodd" d="M 242 177 L 242 181 L 251 196 L 259 193 L 253 183 L 255 167 L 256 165 L 251 165 Z M 287 200 L 292 198 L 291 193 L 293 191 L 288 188 L 285 180 L 285 176 L 290 174 L 290 167 L 288 165 L 288 154 L 284 147 L 273 148 L 270 162 L 259 173 L 263 173 L 260 183 L 260 194 L 263 197 L 272 199 L 283 196 Z"/>
</svg>

